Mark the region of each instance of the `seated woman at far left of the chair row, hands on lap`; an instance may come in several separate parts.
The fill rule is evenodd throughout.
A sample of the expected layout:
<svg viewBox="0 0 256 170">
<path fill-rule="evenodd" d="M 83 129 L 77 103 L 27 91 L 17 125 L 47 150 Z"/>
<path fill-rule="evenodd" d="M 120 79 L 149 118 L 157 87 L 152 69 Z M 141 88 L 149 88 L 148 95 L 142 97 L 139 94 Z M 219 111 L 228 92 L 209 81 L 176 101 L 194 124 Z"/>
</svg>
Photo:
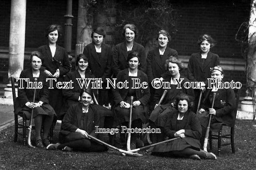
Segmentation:
<svg viewBox="0 0 256 170">
<path fill-rule="evenodd" d="M 29 82 L 42 83 L 42 88 L 36 88 L 35 102 L 33 102 L 35 88 L 27 86 L 24 80 L 19 80 L 19 87 L 23 84 L 24 88 L 18 88 L 18 97 L 15 113 L 24 111 L 27 118 L 31 118 L 31 110 L 34 109 L 33 118 L 35 119 L 35 132 L 36 132 L 36 146 L 43 148 L 48 146 L 49 140 L 47 138 L 53 117 L 55 115 L 54 109 L 48 104 L 49 100 L 49 84 L 46 82 L 47 74 L 40 71 L 42 65 L 42 55 L 38 51 L 33 51 L 30 56 L 31 68 L 23 70 L 20 79 L 28 78 Z M 43 123 L 44 133 L 43 140 L 41 139 L 41 126 Z"/>
</svg>

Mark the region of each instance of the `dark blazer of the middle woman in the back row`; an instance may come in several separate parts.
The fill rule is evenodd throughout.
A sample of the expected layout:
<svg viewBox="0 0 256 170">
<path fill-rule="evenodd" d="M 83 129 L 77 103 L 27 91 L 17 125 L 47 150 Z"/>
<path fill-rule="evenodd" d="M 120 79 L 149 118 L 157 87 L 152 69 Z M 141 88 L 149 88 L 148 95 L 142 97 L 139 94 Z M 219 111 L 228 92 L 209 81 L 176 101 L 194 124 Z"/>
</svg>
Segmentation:
<svg viewBox="0 0 256 170">
<path fill-rule="evenodd" d="M 144 47 L 134 42 L 134 46 L 132 50 L 139 53 L 139 58 L 140 58 L 139 70 L 146 73 L 146 53 L 145 53 Z M 128 53 L 127 53 L 127 47 L 125 42 L 117 44 L 112 49 L 112 59 L 113 59 L 112 70 L 115 77 L 120 71 L 128 68 L 127 56 L 128 56 Z"/>
</svg>

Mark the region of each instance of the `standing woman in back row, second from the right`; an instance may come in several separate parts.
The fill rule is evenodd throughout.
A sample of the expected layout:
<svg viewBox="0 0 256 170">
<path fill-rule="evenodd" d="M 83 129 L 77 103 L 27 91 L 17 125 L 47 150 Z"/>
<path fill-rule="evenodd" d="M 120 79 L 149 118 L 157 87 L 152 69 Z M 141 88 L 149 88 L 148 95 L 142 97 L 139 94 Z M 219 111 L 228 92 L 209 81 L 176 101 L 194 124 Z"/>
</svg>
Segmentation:
<svg viewBox="0 0 256 170">
<path fill-rule="evenodd" d="M 158 37 L 156 38 L 158 41 L 158 47 L 152 49 L 148 52 L 146 58 L 146 74 L 148 77 L 148 82 L 150 84 L 150 94 L 151 101 L 153 101 L 153 97 L 156 89 L 152 87 L 151 82 L 155 78 L 161 78 L 165 70 L 165 61 L 173 56 L 178 58 L 178 52 L 175 49 L 171 49 L 167 47 L 168 42 L 171 41 L 171 36 L 165 30 L 160 30 L 158 32 Z M 165 78 L 165 77 L 164 77 Z M 150 104 L 150 111 L 153 110 L 153 103 Z"/>
</svg>

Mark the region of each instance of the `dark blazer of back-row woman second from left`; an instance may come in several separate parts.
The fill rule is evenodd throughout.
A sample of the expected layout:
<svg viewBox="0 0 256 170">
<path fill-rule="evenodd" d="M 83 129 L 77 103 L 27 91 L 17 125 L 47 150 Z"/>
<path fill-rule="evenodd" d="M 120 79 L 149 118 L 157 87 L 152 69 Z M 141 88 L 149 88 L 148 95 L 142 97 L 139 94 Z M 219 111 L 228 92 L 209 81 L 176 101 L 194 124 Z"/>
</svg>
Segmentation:
<svg viewBox="0 0 256 170">
<path fill-rule="evenodd" d="M 102 78 L 102 81 L 106 82 L 106 78 L 110 78 L 112 74 L 110 47 L 102 43 L 101 53 L 98 57 L 95 46 L 91 43 L 85 46 L 83 54 L 88 58 L 89 68 L 93 75 L 97 78 Z"/>
</svg>

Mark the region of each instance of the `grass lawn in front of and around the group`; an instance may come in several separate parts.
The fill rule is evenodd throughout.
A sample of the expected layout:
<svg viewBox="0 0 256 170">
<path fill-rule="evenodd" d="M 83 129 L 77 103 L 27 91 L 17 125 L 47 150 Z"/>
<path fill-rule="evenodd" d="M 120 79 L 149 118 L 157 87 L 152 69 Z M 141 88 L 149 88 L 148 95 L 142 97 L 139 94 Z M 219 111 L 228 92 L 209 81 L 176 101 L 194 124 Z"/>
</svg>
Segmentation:
<svg viewBox="0 0 256 170">
<path fill-rule="evenodd" d="M 14 127 L 0 132 L 0 170 L 255 170 L 256 122 L 239 120 L 235 128 L 235 149 L 222 146 L 217 160 L 192 160 L 188 158 L 164 158 L 142 151 L 143 157 L 124 157 L 110 150 L 103 153 L 62 152 L 60 150 L 32 149 L 23 146 L 22 138 L 13 142 Z M 54 131 L 58 140 L 60 124 Z M 225 129 L 223 130 L 225 132 Z M 223 132 L 223 134 L 224 134 Z M 33 135 L 33 134 L 32 134 Z M 213 153 L 217 143 L 213 142 Z"/>
</svg>

